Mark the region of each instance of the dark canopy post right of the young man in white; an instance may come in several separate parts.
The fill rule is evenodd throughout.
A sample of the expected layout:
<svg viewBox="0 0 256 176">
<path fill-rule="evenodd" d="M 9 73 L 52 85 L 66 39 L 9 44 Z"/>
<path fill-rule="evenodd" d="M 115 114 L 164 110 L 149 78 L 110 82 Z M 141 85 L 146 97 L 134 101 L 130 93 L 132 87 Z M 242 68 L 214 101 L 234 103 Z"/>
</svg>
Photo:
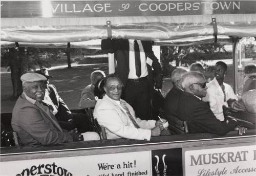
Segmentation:
<svg viewBox="0 0 256 176">
<path fill-rule="evenodd" d="M 233 82 L 233 90 L 235 94 L 238 94 L 238 61 L 236 59 L 236 49 L 238 46 L 239 37 L 233 38 L 233 74 L 234 74 L 234 82 Z"/>
</svg>

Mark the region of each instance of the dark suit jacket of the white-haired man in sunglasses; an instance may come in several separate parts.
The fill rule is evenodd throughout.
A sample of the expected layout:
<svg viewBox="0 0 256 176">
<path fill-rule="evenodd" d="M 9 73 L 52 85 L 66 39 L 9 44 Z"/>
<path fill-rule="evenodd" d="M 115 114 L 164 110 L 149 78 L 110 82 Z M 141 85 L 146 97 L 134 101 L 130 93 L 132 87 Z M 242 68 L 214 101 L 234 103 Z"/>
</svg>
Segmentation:
<svg viewBox="0 0 256 176">
<path fill-rule="evenodd" d="M 192 94 L 184 92 L 178 104 L 179 118 L 187 120 L 189 133 L 212 133 L 226 135 L 233 130 L 237 122 L 231 119 L 218 120 L 207 102 L 200 101 Z"/>
</svg>

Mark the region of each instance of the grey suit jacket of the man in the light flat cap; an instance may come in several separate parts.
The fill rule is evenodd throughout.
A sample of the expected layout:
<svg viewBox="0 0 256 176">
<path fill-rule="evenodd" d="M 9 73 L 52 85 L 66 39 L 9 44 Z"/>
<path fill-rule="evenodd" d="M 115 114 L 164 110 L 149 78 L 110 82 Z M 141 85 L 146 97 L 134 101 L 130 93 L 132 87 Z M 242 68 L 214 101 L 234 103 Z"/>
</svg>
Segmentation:
<svg viewBox="0 0 256 176">
<path fill-rule="evenodd" d="M 62 132 L 56 125 L 57 120 L 54 115 L 47 112 L 48 107 L 42 107 L 45 108 L 39 108 L 29 102 L 23 94 L 17 99 L 12 112 L 12 128 L 17 131 L 20 144 L 45 145 L 72 142 L 72 136 Z"/>
</svg>

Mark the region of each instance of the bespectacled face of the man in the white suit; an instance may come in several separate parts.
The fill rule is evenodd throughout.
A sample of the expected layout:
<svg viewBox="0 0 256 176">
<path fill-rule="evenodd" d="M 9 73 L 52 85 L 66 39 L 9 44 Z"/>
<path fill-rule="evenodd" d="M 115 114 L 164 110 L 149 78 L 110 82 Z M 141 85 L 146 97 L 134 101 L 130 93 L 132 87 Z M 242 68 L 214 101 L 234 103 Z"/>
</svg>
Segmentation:
<svg viewBox="0 0 256 176">
<path fill-rule="evenodd" d="M 122 94 L 122 82 L 117 78 L 109 78 L 104 86 L 106 95 L 113 100 L 120 100 Z"/>
</svg>

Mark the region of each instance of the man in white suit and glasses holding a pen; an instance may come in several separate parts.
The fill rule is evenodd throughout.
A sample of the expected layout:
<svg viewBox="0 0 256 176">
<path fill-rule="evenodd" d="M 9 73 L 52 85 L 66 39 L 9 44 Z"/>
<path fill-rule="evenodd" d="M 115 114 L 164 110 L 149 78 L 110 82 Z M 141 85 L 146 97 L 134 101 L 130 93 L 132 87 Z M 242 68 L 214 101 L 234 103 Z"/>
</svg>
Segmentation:
<svg viewBox="0 0 256 176">
<path fill-rule="evenodd" d="M 141 120 L 128 103 L 121 99 L 122 82 L 115 74 L 110 74 L 104 81 L 106 92 L 98 100 L 94 109 L 94 118 L 106 128 L 108 139 L 129 138 L 149 141 L 151 136 L 160 136 L 165 119 Z"/>
</svg>

